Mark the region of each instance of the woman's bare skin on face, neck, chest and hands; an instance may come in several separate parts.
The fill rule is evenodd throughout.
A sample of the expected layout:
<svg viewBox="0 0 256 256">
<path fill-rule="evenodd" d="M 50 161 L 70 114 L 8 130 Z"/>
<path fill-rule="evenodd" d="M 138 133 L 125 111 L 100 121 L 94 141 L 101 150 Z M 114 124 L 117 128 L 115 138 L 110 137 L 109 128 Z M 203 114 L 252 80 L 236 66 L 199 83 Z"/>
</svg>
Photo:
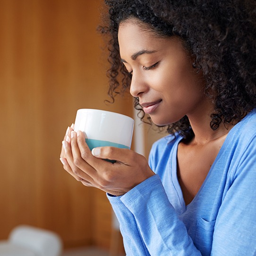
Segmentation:
<svg viewBox="0 0 256 256">
<path fill-rule="evenodd" d="M 195 137 L 178 146 L 177 176 L 186 204 L 193 200 L 231 127 L 210 128 L 213 106 L 205 97 L 204 79 L 178 37 L 157 36 L 148 25 L 129 19 L 119 26 L 121 61 L 132 74 L 130 93 L 139 98 L 157 125 L 187 115 Z M 102 159 L 115 159 L 112 164 Z M 64 169 L 85 186 L 123 195 L 154 175 L 144 156 L 128 149 L 95 148 L 82 132 L 68 128 L 60 160 Z"/>
</svg>

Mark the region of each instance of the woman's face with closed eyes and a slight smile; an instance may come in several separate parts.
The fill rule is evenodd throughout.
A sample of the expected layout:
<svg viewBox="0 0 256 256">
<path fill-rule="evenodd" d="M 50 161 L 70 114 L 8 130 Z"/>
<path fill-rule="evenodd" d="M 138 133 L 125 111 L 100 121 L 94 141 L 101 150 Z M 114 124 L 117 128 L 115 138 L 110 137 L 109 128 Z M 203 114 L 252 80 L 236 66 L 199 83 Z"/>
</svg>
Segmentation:
<svg viewBox="0 0 256 256">
<path fill-rule="evenodd" d="M 121 60 L 132 74 L 130 93 L 156 125 L 168 125 L 203 107 L 204 80 L 178 37 L 160 38 L 130 19 L 119 26 Z M 143 28 L 142 26 L 145 26 Z"/>
</svg>

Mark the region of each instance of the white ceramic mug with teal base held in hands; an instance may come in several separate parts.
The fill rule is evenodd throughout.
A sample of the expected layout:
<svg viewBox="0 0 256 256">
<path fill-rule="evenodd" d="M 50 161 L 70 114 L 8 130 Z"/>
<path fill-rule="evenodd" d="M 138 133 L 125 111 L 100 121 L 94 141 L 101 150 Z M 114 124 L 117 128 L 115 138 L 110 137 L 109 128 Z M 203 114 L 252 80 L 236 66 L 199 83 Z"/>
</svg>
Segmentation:
<svg viewBox="0 0 256 256">
<path fill-rule="evenodd" d="M 98 146 L 130 148 L 134 120 L 128 116 L 96 109 L 79 109 L 74 131 L 82 131 L 90 150 Z"/>
</svg>

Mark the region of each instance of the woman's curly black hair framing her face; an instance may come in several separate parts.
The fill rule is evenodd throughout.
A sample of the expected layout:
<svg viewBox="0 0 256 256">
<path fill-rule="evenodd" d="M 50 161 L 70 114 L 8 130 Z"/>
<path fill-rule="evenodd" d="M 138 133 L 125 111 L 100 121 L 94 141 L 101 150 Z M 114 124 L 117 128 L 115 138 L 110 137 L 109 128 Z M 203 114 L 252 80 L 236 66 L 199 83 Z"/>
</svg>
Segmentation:
<svg viewBox="0 0 256 256">
<path fill-rule="evenodd" d="M 105 0 L 110 51 L 109 95 L 127 90 L 131 76 L 120 61 L 118 29 L 131 17 L 149 24 L 159 36 L 179 36 L 202 71 L 205 94 L 213 100 L 210 126 L 238 122 L 256 107 L 255 0 Z M 145 113 L 135 98 L 135 108 Z M 148 118 L 150 119 L 150 118 Z M 167 126 L 167 132 L 193 137 L 188 117 Z"/>
</svg>

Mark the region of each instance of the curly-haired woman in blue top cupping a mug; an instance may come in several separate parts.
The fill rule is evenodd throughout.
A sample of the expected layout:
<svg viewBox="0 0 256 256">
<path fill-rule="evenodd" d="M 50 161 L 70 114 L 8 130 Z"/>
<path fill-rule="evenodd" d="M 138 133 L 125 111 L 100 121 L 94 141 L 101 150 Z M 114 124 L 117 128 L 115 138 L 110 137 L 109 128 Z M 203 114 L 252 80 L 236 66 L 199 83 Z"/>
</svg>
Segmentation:
<svg viewBox="0 0 256 256">
<path fill-rule="evenodd" d="M 106 1 L 109 94 L 170 135 L 147 164 L 68 128 L 60 160 L 107 192 L 127 255 L 256 255 L 256 6 L 222 2 Z"/>
</svg>

